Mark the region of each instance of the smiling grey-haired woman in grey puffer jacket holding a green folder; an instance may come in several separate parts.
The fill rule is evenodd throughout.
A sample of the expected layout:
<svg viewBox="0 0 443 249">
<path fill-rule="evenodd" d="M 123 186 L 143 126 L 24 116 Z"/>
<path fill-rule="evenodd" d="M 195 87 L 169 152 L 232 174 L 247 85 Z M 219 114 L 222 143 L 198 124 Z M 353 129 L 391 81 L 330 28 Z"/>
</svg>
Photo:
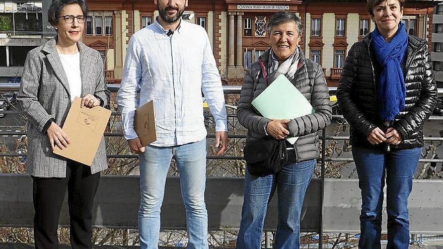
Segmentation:
<svg viewBox="0 0 443 249">
<path fill-rule="evenodd" d="M 248 129 L 246 143 L 266 138 L 282 141 L 287 161 L 281 169 L 257 174 L 246 163 L 245 196 L 237 248 L 261 248 L 267 204 L 278 192 L 278 226 L 274 248 L 300 247 L 300 214 L 305 192 L 311 181 L 318 156 L 317 132 L 332 118 L 328 87 L 322 67 L 305 58 L 298 47 L 302 36 L 300 18 L 289 12 L 275 13 L 268 24 L 269 48 L 248 68 L 237 109 L 239 122 Z M 283 74 L 311 103 L 315 112 L 295 119 L 268 119 L 251 104 L 272 81 Z M 299 137 L 296 143 L 283 140 Z M 260 140 L 262 141 L 262 140 Z M 251 144 L 251 143 L 250 143 Z M 245 150 L 246 151 L 246 150 Z M 283 150 L 284 151 L 284 150 Z M 257 151 L 257 154 L 261 151 Z M 246 158 L 245 152 L 245 158 Z M 252 152 L 252 154 L 254 154 Z"/>
</svg>

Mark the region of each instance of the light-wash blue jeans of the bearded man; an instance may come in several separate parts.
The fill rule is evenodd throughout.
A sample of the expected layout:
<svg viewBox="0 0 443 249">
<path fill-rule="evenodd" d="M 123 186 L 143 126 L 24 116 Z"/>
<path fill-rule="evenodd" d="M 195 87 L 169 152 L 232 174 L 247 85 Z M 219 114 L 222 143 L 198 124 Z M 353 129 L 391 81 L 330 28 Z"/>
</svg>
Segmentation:
<svg viewBox="0 0 443 249">
<path fill-rule="evenodd" d="M 174 156 L 180 174 L 180 186 L 186 208 L 188 249 L 208 248 L 206 185 L 206 139 L 170 147 L 148 145 L 139 155 L 140 208 L 138 229 L 140 248 L 158 248 L 160 208 L 165 194 L 166 176 Z"/>
</svg>

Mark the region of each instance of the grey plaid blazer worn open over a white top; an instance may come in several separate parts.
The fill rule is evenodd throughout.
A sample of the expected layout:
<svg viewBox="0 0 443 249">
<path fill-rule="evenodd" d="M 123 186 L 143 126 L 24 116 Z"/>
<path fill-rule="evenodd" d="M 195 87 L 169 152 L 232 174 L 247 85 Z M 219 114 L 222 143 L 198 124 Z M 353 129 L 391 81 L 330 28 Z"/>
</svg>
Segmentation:
<svg viewBox="0 0 443 249">
<path fill-rule="evenodd" d="M 28 118 L 27 172 L 35 177 L 66 177 L 67 159 L 52 152 L 43 128 L 49 119 L 62 127 L 70 108 L 69 83 L 55 49 L 57 36 L 43 46 L 29 51 L 23 68 L 19 106 Z M 105 106 L 109 102 L 103 60 L 98 51 L 78 42 L 82 97 L 92 94 L 100 97 Z M 91 166 L 95 174 L 108 168 L 105 139 L 102 137 Z"/>
</svg>

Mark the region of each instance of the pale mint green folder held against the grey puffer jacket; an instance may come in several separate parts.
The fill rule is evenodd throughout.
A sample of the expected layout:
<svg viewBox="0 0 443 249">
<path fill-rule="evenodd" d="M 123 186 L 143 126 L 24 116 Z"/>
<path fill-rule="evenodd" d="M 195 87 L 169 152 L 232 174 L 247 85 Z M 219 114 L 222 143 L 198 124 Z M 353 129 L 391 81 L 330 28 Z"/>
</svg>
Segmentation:
<svg viewBox="0 0 443 249">
<path fill-rule="evenodd" d="M 294 119 L 314 113 L 311 103 L 281 74 L 252 101 L 260 114 L 269 119 Z M 299 137 L 286 137 L 294 144 Z"/>
</svg>

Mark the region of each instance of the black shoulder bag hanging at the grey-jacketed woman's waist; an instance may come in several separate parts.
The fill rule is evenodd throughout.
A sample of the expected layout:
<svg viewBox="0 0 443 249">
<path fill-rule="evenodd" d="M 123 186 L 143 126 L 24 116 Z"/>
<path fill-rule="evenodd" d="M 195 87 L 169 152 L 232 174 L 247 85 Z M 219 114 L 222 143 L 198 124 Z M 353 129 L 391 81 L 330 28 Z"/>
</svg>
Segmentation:
<svg viewBox="0 0 443 249">
<path fill-rule="evenodd" d="M 278 172 L 287 162 L 284 139 L 276 140 L 271 136 L 246 140 L 243 155 L 249 174 L 258 177 Z"/>
</svg>

